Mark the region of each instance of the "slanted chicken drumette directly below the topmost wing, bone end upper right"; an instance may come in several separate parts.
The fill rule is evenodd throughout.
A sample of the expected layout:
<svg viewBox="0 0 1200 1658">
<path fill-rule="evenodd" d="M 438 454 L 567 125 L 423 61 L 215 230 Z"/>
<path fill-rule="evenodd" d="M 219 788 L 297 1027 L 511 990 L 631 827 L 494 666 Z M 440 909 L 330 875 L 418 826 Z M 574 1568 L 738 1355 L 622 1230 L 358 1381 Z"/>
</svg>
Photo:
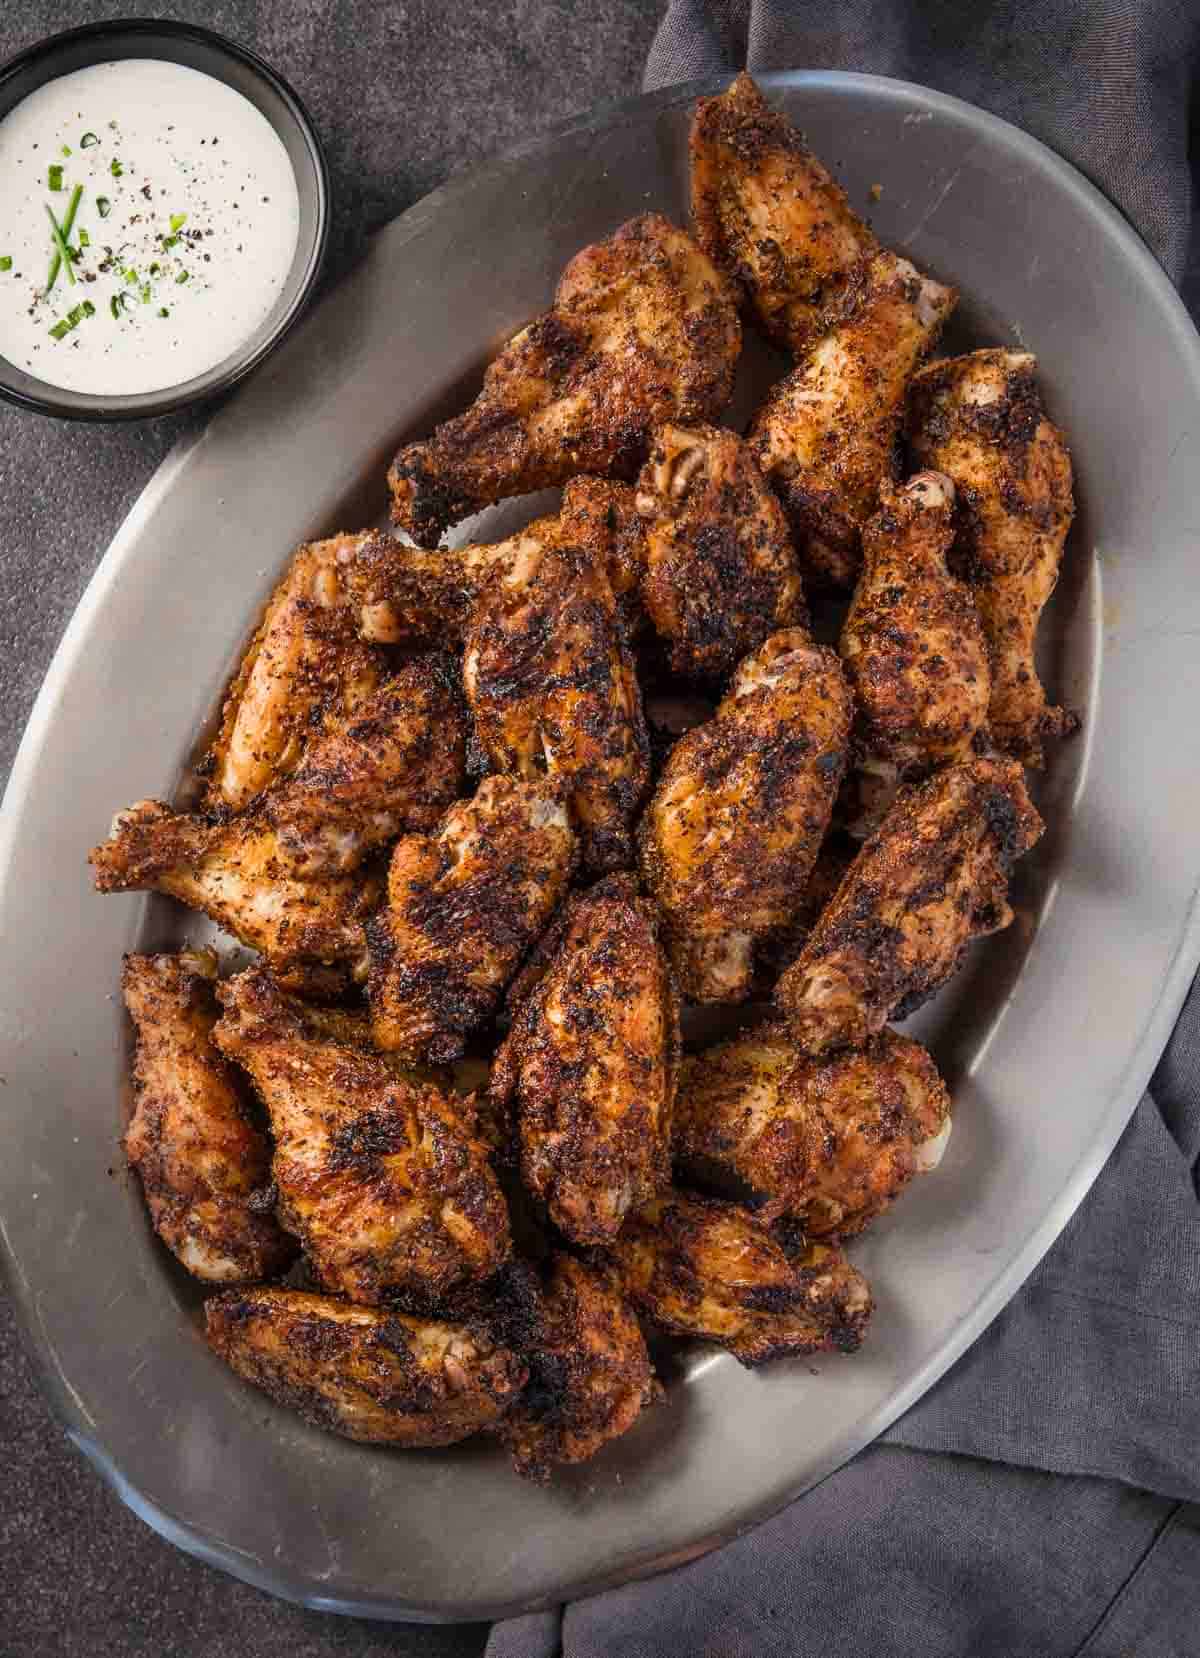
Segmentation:
<svg viewBox="0 0 1200 1658">
<path fill-rule="evenodd" d="M 850 587 L 862 526 L 895 473 L 908 380 L 958 295 L 897 254 L 877 254 L 862 293 L 769 393 L 749 444 L 779 496 L 806 580 Z"/>
</svg>

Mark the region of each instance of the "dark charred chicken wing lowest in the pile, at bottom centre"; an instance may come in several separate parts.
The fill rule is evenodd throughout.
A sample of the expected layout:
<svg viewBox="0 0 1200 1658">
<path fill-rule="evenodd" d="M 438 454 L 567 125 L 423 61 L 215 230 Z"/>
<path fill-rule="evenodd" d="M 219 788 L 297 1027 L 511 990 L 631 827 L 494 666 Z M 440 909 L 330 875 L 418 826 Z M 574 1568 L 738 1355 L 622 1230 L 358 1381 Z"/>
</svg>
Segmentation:
<svg viewBox="0 0 1200 1658">
<path fill-rule="evenodd" d="M 641 1328 L 612 1277 L 559 1252 L 544 1280 L 520 1345 L 529 1383 L 501 1426 L 517 1472 L 539 1481 L 593 1457 L 655 1396 Z"/>
</svg>

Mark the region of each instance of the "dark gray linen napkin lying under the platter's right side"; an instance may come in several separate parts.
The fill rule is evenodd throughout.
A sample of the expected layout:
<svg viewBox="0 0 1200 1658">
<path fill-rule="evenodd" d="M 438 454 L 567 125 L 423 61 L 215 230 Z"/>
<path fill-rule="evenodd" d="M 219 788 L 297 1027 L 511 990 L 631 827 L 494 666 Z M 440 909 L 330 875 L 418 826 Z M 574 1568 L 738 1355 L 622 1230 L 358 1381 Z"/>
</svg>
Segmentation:
<svg viewBox="0 0 1200 1658">
<path fill-rule="evenodd" d="M 1198 63 L 1200 7 L 1172 0 L 673 0 L 645 85 L 748 65 L 955 93 L 1074 161 L 1182 282 Z M 918 1651 L 1200 1655 L 1200 985 L 1062 1237 L 880 1442 L 718 1554 L 497 1625 L 487 1658 Z"/>
</svg>

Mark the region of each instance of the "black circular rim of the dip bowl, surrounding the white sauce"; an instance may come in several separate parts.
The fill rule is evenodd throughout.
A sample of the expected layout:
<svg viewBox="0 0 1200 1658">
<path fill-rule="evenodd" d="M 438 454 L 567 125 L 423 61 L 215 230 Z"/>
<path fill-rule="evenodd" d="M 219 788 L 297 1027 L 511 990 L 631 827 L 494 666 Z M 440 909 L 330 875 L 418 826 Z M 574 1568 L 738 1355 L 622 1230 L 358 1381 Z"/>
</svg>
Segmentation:
<svg viewBox="0 0 1200 1658">
<path fill-rule="evenodd" d="M 53 419 L 88 421 L 93 424 L 114 424 L 118 421 L 154 419 L 162 414 L 177 414 L 181 410 L 194 408 L 232 391 L 234 386 L 240 385 L 247 375 L 254 373 L 254 370 L 262 365 L 262 361 L 292 332 L 307 310 L 320 280 L 330 240 L 330 167 L 317 124 L 308 114 L 303 99 L 278 73 L 278 70 L 273 70 L 265 58 L 259 56 L 257 51 L 252 51 L 249 46 L 242 46 L 239 41 L 230 40 L 227 35 L 222 35 L 214 28 L 206 28 L 202 23 L 182 23 L 174 18 L 146 17 L 114 17 L 96 23 L 80 23 L 76 28 L 65 28 L 55 35 L 45 35 L 41 40 L 35 40 L 33 45 L 25 46 L 15 56 L 0 63 L 0 93 L 15 76 L 22 75 L 31 65 L 53 58 L 66 46 L 88 40 L 103 41 L 104 36 L 119 35 L 157 36 L 164 41 L 191 40 L 197 45 L 209 46 L 220 56 L 232 58 L 235 63 L 240 63 L 244 68 L 250 70 L 262 81 L 265 81 L 267 86 L 282 99 L 308 149 L 317 177 L 317 222 L 305 270 L 287 312 L 280 317 L 270 333 L 259 340 L 254 350 L 245 351 L 244 356 L 237 356 L 234 365 L 220 373 L 217 373 L 215 368 L 210 368 L 202 375 L 196 375 L 192 380 L 182 381 L 179 386 L 167 388 L 166 391 L 134 391 L 121 393 L 111 398 L 106 398 L 103 393 L 73 393 L 76 398 L 93 396 L 94 401 L 85 405 L 66 405 L 53 395 L 53 388 L 51 393 L 46 395 L 7 385 L 3 378 L 5 360 L 0 358 L 0 398 L 3 398 L 3 401 L 12 403 L 17 408 L 28 410 L 33 414 L 46 414 Z M 164 53 L 164 58 L 167 61 L 177 61 L 171 60 L 169 53 Z M 51 75 L 48 80 L 55 80 L 55 76 Z M 249 338 L 254 340 L 255 335 L 250 335 Z M 225 361 L 229 360 L 225 358 Z M 46 385 L 46 381 L 40 381 L 40 385 Z"/>
</svg>

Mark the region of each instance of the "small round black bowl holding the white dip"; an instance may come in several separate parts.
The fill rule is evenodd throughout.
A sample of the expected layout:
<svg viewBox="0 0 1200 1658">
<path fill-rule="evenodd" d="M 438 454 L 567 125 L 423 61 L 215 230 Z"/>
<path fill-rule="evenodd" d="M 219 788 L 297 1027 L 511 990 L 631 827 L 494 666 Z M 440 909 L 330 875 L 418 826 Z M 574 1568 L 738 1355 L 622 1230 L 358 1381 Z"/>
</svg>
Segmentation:
<svg viewBox="0 0 1200 1658">
<path fill-rule="evenodd" d="M 247 98 L 275 128 L 295 172 L 300 237 L 292 270 L 267 318 L 224 361 L 194 380 L 157 391 L 99 396 L 65 391 L 0 356 L 0 396 L 38 414 L 63 419 L 146 419 L 220 396 L 245 380 L 280 343 L 317 285 L 330 224 L 330 177 L 317 131 L 303 104 L 275 71 L 245 46 L 194 23 L 123 18 L 51 35 L 0 68 L 0 121 L 46 81 L 118 58 L 162 58 L 201 70 Z"/>
</svg>

